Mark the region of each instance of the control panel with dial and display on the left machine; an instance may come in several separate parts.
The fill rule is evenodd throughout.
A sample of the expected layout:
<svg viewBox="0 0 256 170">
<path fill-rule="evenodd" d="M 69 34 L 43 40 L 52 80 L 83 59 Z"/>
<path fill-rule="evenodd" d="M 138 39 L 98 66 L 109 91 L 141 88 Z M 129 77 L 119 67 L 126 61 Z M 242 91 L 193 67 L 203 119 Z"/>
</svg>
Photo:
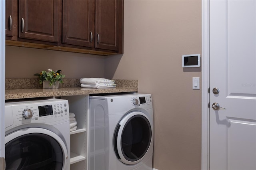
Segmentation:
<svg viewBox="0 0 256 170">
<path fill-rule="evenodd" d="M 69 119 L 68 101 L 46 99 L 36 101 L 18 101 L 5 104 L 6 124 L 47 123 Z"/>
</svg>

